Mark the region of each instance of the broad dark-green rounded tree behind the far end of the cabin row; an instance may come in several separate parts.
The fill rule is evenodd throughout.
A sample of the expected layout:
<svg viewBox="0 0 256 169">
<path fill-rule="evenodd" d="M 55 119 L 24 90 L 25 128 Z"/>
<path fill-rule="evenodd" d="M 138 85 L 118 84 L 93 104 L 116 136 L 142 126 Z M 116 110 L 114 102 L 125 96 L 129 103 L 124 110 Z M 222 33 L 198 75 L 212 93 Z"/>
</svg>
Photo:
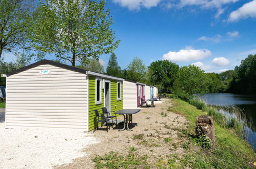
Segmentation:
<svg viewBox="0 0 256 169">
<path fill-rule="evenodd" d="M 150 64 L 148 72 L 151 83 L 162 86 L 161 91 L 169 93 L 179 72 L 179 66 L 169 60 L 158 60 Z"/>
</svg>

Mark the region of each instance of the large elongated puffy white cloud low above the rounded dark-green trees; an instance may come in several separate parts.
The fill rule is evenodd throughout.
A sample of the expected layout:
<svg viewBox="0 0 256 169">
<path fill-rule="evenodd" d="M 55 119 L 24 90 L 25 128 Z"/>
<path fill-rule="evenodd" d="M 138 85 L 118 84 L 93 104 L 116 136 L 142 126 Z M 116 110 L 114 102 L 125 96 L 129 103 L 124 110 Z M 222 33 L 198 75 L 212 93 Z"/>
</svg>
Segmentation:
<svg viewBox="0 0 256 169">
<path fill-rule="evenodd" d="M 164 60 L 170 60 L 173 62 L 199 60 L 211 55 L 211 51 L 207 49 L 193 49 L 192 47 L 186 47 L 178 52 L 169 51 L 163 55 Z"/>
</svg>

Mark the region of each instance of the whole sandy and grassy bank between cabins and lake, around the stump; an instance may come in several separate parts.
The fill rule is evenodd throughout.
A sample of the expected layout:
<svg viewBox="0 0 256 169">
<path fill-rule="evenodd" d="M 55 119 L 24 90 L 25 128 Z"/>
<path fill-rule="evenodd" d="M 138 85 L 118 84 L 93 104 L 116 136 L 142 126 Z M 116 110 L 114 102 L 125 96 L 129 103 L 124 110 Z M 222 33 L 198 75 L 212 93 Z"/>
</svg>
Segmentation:
<svg viewBox="0 0 256 169">
<path fill-rule="evenodd" d="M 216 149 L 203 149 L 194 137 L 195 118 L 206 114 L 180 99 L 134 115 L 133 132 L 96 131 L 100 143 L 89 156 L 56 168 L 254 168 L 252 147 L 233 131 L 215 125 Z"/>
</svg>

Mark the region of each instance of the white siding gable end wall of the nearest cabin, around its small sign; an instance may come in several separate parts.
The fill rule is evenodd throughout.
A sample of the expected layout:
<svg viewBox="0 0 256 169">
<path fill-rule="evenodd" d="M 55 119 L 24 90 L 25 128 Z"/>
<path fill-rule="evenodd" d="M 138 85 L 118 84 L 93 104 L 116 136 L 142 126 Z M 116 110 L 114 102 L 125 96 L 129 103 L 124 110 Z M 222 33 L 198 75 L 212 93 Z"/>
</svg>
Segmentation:
<svg viewBox="0 0 256 169">
<path fill-rule="evenodd" d="M 50 70 L 40 74 L 40 70 Z M 6 128 L 88 131 L 87 75 L 41 65 L 7 77 Z"/>
</svg>

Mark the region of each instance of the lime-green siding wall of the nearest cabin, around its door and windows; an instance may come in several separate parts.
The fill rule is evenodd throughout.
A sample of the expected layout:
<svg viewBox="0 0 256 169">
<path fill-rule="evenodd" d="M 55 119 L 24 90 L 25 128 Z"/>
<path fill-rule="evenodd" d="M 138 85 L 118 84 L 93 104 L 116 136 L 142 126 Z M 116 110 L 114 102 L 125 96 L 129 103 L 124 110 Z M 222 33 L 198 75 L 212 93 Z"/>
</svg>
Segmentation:
<svg viewBox="0 0 256 169">
<path fill-rule="evenodd" d="M 121 100 L 117 100 L 117 80 L 112 80 L 112 79 L 107 79 L 107 78 L 102 78 L 102 87 L 101 87 L 101 93 L 102 93 L 102 102 L 100 104 L 96 104 L 96 78 L 95 76 L 89 75 L 88 78 L 88 87 L 89 87 L 89 92 L 88 92 L 88 117 L 89 117 L 89 123 L 88 123 L 88 131 L 91 131 L 95 128 L 96 126 L 96 119 L 95 119 L 95 113 L 94 110 L 98 110 L 99 113 L 102 113 L 102 108 L 104 107 L 104 88 L 103 88 L 103 83 L 105 80 L 110 81 L 110 110 L 111 111 L 119 111 L 123 109 L 123 81 L 118 81 L 121 82 Z M 119 116 L 119 115 L 118 115 Z"/>
</svg>

